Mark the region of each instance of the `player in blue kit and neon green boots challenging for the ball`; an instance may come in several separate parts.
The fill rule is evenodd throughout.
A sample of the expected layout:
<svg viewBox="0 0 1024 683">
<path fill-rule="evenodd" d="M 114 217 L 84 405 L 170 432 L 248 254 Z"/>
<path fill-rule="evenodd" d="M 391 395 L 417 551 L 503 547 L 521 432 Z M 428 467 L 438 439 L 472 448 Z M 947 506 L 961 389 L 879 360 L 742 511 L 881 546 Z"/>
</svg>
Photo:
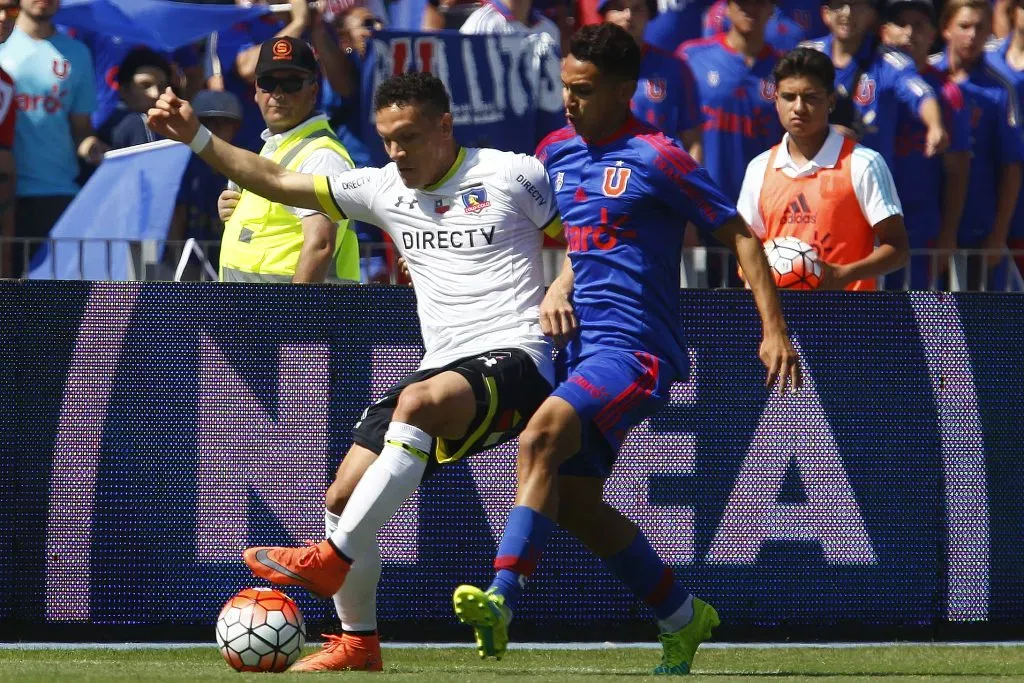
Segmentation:
<svg viewBox="0 0 1024 683">
<path fill-rule="evenodd" d="M 732 248 L 761 313 L 768 383 L 800 384 L 760 242 L 734 204 L 682 147 L 637 121 L 630 99 L 641 54 L 618 27 L 586 27 L 562 65 L 569 125 L 538 150 L 568 241 L 566 265 L 548 291 L 542 326 L 568 339 L 568 379 L 519 439 L 518 493 L 484 592 L 460 586 L 456 612 L 476 632 L 481 656 L 502 656 L 526 579 L 557 523 L 597 553 L 658 620 L 656 674 L 688 673 L 718 614 L 679 584 L 637 525 L 602 500 L 630 429 L 668 400 L 689 370 L 679 326 L 683 225 Z"/>
</svg>

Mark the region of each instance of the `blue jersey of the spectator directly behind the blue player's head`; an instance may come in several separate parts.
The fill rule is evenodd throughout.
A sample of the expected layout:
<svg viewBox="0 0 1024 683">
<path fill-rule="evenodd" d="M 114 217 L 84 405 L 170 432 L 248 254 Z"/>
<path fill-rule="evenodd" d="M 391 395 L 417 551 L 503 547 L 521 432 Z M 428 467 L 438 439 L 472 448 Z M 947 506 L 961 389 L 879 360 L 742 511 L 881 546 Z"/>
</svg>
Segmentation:
<svg viewBox="0 0 1024 683">
<path fill-rule="evenodd" d="M 671 52 L 644 45 L 633 115 L 670 137 L 701 123 L 693 72 Z"/>
</svg>

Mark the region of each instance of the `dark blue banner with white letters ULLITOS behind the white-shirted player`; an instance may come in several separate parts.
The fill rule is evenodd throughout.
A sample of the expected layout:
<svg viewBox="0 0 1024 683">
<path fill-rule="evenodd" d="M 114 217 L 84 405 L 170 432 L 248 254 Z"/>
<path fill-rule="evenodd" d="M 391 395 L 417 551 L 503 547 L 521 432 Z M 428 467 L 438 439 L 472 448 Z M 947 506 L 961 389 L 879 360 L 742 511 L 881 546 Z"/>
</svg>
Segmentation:
<svg viewBox="0 0 1024 683">
<path fill-rule="evenodd" d="M 368 57 L 365 140 L 377 139 L 369 105 L 377 85 L 412 71 L 428 71 L 444 82 L 463 144 L 532 154 L 545 135 L 565 125 L 558 46 L 547 36 L 384 31 L 374 36 Z M 375 164 L 388 162 L 380 144 L 370 147 Z"/>
</svg>

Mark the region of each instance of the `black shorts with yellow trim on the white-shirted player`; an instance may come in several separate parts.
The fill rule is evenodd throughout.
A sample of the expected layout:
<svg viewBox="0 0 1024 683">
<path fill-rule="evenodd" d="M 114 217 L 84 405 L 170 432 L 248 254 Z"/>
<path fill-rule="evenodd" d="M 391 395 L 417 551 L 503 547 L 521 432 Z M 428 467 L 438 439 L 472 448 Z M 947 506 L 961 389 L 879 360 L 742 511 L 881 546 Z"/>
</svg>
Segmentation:
<svg viewBox="0 0 1024 683">
<path fill-rule="evenodd" d="M 384 450 L 384 434 L 401 390 L 444 372 L 459 373 L 473 387 L 476 415 L 463 438 L 434 439 L 427 475 L 438 464 L 486 451 L 516 436 L 552 390 L 525 351 L 517 348 L 487 351 L 442 368 L 417 371 L 398 382 L 362 412 L 352 430 L 352 440 L 379 454 Z"/>
</svg>

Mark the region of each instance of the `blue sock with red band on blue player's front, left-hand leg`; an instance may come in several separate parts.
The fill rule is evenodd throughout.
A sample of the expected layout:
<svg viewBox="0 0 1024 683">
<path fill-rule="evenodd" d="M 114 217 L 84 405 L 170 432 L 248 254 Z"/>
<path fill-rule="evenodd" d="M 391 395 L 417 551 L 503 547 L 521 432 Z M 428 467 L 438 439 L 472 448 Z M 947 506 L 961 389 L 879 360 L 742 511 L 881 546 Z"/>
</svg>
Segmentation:
<svg viewBox="0 0 1024 683">
<path fill-rule="evenodd" d="M 505 533 L 495 557 L 495 580 L 490 588 L 505 598 L 509 609 L 515 609 L 526 580 L 537 568 L 555 522 L 549 517 L 523 505 L 509 512 Z"/>
</svg>

